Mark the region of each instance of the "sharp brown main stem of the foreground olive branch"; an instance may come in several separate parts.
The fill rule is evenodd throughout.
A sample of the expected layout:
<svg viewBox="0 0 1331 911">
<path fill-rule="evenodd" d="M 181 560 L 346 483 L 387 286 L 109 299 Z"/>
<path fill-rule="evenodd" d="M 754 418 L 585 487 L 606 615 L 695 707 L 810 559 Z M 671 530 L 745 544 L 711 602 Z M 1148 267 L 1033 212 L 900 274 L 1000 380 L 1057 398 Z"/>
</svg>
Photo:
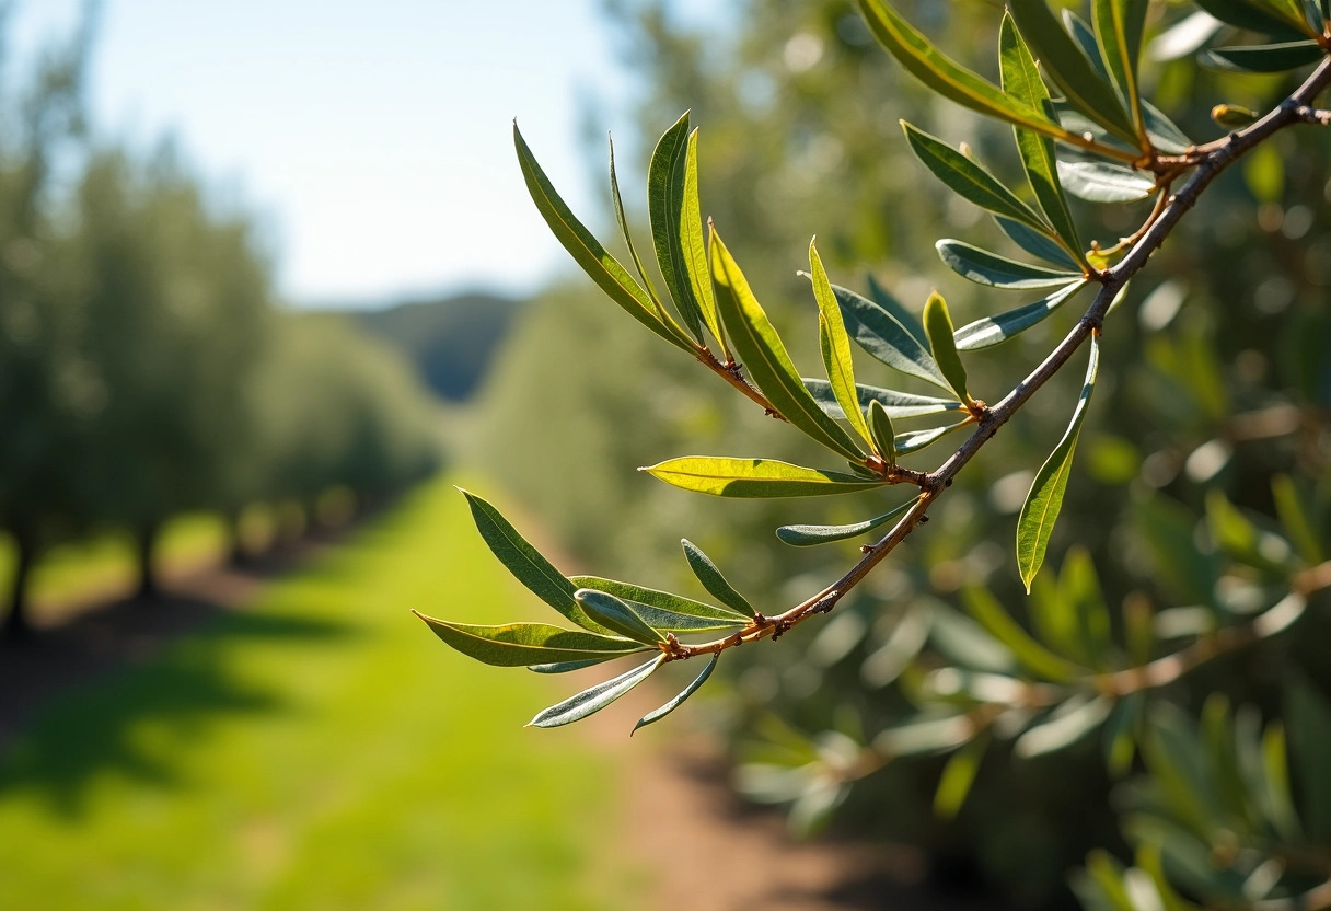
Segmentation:
<svg viewBox="0 0 1331 911">
<path fill-rule="evenodd" d="M 1198 147 L 1194 151 L 1195 156 L 1190 157 L 1187 164 L 1189 166 L 1195 164 L 1197 170 L 1193 172 L 1187 184 L 1178 193 L 1173 196 L 1162 194 L 1167 196 L 1163 209 L 1158 216 L 1154 216 L 1153 213 L 1154 220 L 1149 221 L 1146 230 L 1142 233 L 1141 240 L 1133 246 L 1133 249 L 1130 249 L 1127 254 L 1119 260 L 1117 265 L 1114 265 L 1114 268 L 1102 273 L 1099 293 L 1095 294 L 1095 300 L 1091 301 L 1091 305 L 1082 314 L 1081 320 L 1077 321 L 1077 325 L 1073 326 L 1071 332 L 1063 337 L 1058 346 L 1049 353 L 1040 366 L 1032 370 L 1030 376 L 1017 384 L 1017 386 L 997 405 L 989 406 L 984 410 L 982 417 L 977 421 L 976 432 L 966 440 L 966 442 L 964 442 L 961 448 L 957 449 L 957 452 L 954 452 L 942 465 L 933 471 L 929 471 L 922 478 L 920 483 L 920 498 L 916 499 L 906 514 L 902 515 L 892 530 L 888 531 L 888 534 L 884 535 L 877 543 L 865 547 L 864 557 L 861 557 L 860 561 L 841 578 L 819 591 L 816 595 L 803 601 L 795 607 L 791 607 L 785 613 L 775 617 L 756 618 L 743 630 L 735 633 L 733 635 L 728 635 L 724 639 L 715 639 L 700 645 L 675 645 L 668 647 L 666 649 L 667 661 L 680 661 L 693 658 L 696 655 L 716 654 L 745 642 L 755 642 L 767 637 L 776 638 L 809 617 L 832 610 L 848 591 L 858 585 L 860 581 L 864 579 L 864 577 L 882 561 L 884 557 L 896 550 L 896 547 L 905 541 L 918 525 L 928 521 L 926 513 L 929 511 L 929 506 L 933 501 L 937 499 L 942 490 L 952 483 L 952 479 L 957 475 L 957 473 L 976 457 L 980 449 L 989 442 L 996 433 L 998 433 L 998 429 L 1006 424 L 1013 414 L 1016 414 L 1017 409 L 1025 405 L 1026 401 L 1036 394 L 1037 389 L 1044 386 L 1050 377 L 1058 373 L 1058 370 L 1067 364 L 1069 358 L 1071 358 L 1077 349 L 1081 348 L 1082 342 L 1085 342 L 1093 333 L 1099 334 L 1101 326 L 1105 321 L 1105 314 L 1114 302 L 1114 297 L 1119 290 L 1122 290 L 1123 285 L 1127 284 L 1129 278 L 1141 272 L 1151 253 L 1159 249 L 1161 244 L 1165 242 L 1165 238 L 1178 224 L 1179 218 L 1182 218 L 1187 210 L 1197 204 L 1198 197 L 1211 184 L 1211 181 L 1215 180 L 1222 170 L 1234 164 L 1239 156 L 1263 140 L 1286 127 L 1303 123 L 1304 117 L 1302 112 L 1307 109 L 1307 107 L 1328 84 L 1331 84 L 1331 57 L 1323 60 L 1318 68 L 1312 71 L 1303 85 L 1300 85 L 1290 97 L 1282 101 L 1264 117 L 1240 131 L 1230 133 L 1223 140 L 1218 140 L 1217 143 L 1211 143 L 1205 147 Z M 700 357 L 699 360 L 703 358 Z M 747 384 L 744 385 L 747 386 Z M 753 398 L 753 396 L 749 394 L 749 398 Z M 768 405 L 767 408 L 771 406 Z M 1327 571 L 1331 573 L 1331 570 Z M 1223 630 L 1219 633 L 1223 633 Z M 1217 635 L 1219 635 L 1219 633 L 1217 633 Z"/>
</svg>

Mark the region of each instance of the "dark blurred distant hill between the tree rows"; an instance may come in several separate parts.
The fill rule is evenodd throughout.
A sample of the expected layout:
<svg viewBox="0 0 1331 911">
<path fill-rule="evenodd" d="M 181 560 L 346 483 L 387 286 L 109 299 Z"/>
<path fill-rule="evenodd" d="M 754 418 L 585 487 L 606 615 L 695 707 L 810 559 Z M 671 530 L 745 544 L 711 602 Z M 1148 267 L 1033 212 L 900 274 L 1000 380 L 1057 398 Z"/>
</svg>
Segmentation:
<svg viewBox="0 0 1331 911">
<path fill-rule="evenodd" d="M 470 293 L 382 310 L 351 310 L 347 316 L 399 349 L 430 389 L 461 402 L 480 385 L 524 305 L 508 297 Z"/>
</svg>

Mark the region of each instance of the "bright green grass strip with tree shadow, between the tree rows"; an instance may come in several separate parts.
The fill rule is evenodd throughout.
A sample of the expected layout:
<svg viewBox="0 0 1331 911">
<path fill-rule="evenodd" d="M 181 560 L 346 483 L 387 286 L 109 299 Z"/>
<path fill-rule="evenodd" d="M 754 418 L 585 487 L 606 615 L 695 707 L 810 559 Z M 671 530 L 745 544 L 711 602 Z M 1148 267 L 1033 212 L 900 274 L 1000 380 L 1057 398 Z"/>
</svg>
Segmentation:
<svg viewBox="0 0 1331 911">
<path fill-rule="evenodd" d="M 640 872 L 598 847 L 611 758 L 522 727 L 567 683 L 467 662 L 407 613 L 524 598 L 439 481 L 49 705 L 0 757 L 0 907 L 626 907 Z"/>
</svg>

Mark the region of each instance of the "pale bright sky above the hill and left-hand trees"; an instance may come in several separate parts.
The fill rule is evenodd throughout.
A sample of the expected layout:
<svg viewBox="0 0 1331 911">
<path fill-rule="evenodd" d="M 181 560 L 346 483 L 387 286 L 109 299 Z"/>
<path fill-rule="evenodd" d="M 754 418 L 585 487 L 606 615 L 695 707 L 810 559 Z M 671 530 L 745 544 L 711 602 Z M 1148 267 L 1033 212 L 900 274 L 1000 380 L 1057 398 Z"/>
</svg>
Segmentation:
<svg viewBox="0 0 1331 911">
<path fill-rule="evenodd" d="M 20 0 L 16 45 L 77 8 Z M 92 63 L 98 132 L 176 136 L 261 213 L 295 302 L 531 290 L 566 254 L 526 196 L 511 120 L 575 212 L 606 192 L 579 99 L 631 132 L 632 76 L 598 0 L 104 0 Z"/>
</svg>

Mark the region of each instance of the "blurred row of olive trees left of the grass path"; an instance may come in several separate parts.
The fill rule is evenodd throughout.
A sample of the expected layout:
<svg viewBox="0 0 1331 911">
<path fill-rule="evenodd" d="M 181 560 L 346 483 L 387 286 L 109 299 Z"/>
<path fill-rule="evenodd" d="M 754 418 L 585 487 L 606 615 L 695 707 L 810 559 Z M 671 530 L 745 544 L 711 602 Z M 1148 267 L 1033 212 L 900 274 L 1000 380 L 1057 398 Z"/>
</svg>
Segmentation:
<svg viewBox="0 0 1331 911">
<path fill-rule="evenodd" d="M 182 510 L 236 518 L 343 485 L 398 487 L 435 461 L 430 409 L 389 352 L 273 305 L 252 220 L 218 212 L 169 152 L 83 129 L 83 43 L 4 104 L 0 144 L 0 527 L 17 554 L 5 631 L 28 626 L 51 542 L 153 542 Z M 0 101 L 9 101 L 0 99 Z"/>
</svg>

